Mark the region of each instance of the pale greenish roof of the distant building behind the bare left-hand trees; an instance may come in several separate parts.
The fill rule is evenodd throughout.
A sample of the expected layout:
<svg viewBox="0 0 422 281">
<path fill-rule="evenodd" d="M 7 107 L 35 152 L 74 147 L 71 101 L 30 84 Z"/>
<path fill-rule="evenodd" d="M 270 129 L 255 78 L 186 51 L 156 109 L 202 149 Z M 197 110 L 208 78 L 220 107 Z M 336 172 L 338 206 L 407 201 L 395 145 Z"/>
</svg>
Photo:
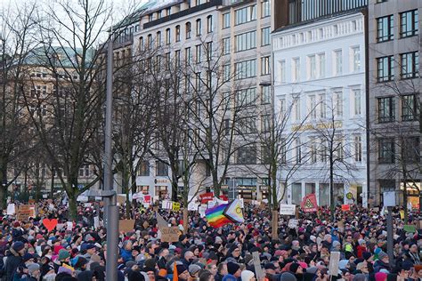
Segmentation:
<svg viewBox="0 0 422 281">
<path fill-rule="evenodd" d="M 70 47 L 61 46 L 41 46 L 29 52 L 23 62 L 33 66 L 50 66 L 52 63 L 58 68 L 73 68 L 77 62 L 78 54 L 82 53 L 82 48 L 77 48 L 76 52 Z M 95 50 L 90 49 L 86 53 L 86 64 L 92 62 Z M 58 60 L 54 60 L 57 58 Z"/>
</svg>

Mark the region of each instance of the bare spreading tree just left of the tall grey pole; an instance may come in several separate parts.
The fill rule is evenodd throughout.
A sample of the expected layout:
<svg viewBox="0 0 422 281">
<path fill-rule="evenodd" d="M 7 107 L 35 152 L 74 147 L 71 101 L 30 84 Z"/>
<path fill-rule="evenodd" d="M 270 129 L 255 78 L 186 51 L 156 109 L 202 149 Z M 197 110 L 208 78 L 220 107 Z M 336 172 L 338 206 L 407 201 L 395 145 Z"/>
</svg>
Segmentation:
<svg viewBox="0 0 422 281">
<path fill-rule="evenodd" d="M 97 63 L 103 61 L 101 50 L 95 48 L 110 12 L 103 0 L 54 3 L 39 25 L 42 47 L 33 53 L 53 91 L 26 97 L 27 107 L 36 108 L 32 122 L 69 197 L 72 219 L 77 215 L 77 196 L 101 178 L 95 176 L 79 188 L 79 169 L 90 164 L 94 136 L 101 130 L 104 94 L 98 86 L 102 81 Z"/>
</svg>

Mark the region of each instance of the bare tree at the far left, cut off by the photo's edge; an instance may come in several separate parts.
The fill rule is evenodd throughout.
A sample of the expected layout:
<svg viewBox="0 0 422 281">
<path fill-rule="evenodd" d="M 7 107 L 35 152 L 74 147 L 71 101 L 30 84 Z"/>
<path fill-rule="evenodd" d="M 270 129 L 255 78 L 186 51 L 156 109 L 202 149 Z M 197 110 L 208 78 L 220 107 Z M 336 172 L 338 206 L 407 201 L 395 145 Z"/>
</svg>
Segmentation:
<svg viewBox="0 0 422 281">
<path fill-rule="evenodd" d="M 8 187 L 24 168 L 24 157 L 33 147 L 28 114 L 23 106 L 28 68 L 25 58 L 37 42 L 35 3 L 4 8 L 0 14 L 0 207 L 4 208 Z M 12 179 L 8 171 L 14 167 Z"/>
</svg>

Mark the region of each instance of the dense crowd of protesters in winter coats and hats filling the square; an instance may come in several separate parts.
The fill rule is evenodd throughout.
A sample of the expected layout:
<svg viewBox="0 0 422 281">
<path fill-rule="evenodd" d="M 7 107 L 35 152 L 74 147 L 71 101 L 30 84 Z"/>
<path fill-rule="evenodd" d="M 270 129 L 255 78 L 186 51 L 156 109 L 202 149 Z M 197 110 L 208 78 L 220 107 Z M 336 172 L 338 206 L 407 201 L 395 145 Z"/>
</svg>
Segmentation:
<svg viewBox="0 0 422 281">
<path fill-rule="evenodd" d="M 393 211 L 394 261 L 386 250 L 385 213 L 358 206 L 336 212 L 335 221 L 323 208 L 300 213 L 294 228 L 288 227 L 291 217 L 280 216 L 278 236 L 272 237 L 271 212 L 252 205 L 244 207 L 245 223 L 219 229 L 196 212 L 190 212 L 184 229 L 182 211 L 133 208 L 134 229 L 119 236 L 118 281 L 422 279 L 422 231 L 409 232 L 399 209 Z M 63 227 L 70 221 L 66 205 L 51 201 L 37 203 L 36 217 L 27 221 L 5 213 L 0 229 L 1 280 L 105 279 L 107 233 L 93 223 L 101 207 L 80 205 L 70 229 Z M 180 229 L 178 241 L 161 241 L 157 213 Z M 45 218 L 57 218 L 59 224 L 48 231 Z M 407 224 L 417 227 L 418 213 L 410 212 Z M 336 265 L 330 264 L 334 252 L 340 255 Z"/>
</svg>

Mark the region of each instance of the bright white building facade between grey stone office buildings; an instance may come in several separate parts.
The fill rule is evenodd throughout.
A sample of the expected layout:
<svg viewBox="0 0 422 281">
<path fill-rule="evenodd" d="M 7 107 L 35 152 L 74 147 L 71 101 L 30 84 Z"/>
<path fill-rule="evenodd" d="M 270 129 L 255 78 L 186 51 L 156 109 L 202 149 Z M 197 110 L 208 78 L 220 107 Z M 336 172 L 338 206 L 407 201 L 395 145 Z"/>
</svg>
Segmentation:
<svg viewBox="0 0 422 281">
<path fill-rule="evenodd" d="M 286 116 L 283 201 L 299 205 L 315 193 L 319 205 L 329 205 L 332 150 L 336 204 L 367 205 L 364 16 L 280 28 L 272 52 L 274 110 Z"/>
</svg>

